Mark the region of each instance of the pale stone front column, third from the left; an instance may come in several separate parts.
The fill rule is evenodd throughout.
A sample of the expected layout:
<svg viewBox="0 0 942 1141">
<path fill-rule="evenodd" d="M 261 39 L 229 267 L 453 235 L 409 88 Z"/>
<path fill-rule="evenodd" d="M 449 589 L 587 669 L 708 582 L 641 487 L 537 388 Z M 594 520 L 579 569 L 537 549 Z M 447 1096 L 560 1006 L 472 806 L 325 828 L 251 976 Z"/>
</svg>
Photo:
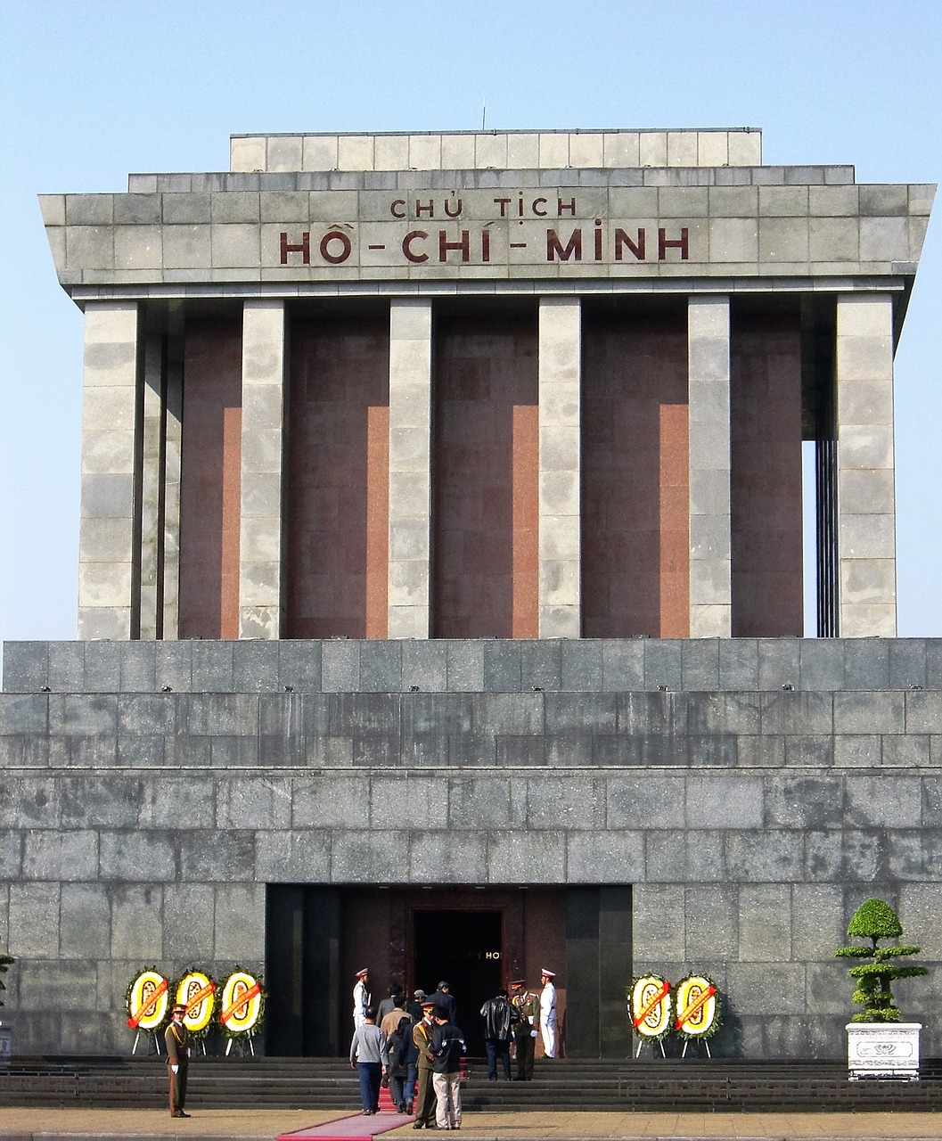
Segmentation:
<svg viewBox="0 0 942 1141">
<path fill-rule="evenodd" d="M 432 302 L 389 311 L 389 630 L 429 638 L 431 615 Z"/>
</svg>

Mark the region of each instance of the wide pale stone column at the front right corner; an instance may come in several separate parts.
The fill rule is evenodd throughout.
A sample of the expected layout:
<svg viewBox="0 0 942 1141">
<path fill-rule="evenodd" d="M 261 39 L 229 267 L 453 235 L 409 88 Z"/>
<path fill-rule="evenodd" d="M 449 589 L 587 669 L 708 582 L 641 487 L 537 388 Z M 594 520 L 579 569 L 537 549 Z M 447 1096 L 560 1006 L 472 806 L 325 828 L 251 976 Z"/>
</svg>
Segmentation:
<svg viewBox="0 0 942 1141">
<path fill-rule="evenodd" d="M 896 636 L 893 298 L 837 298 L 837 556 L 842 638 Z"/>
</svg>

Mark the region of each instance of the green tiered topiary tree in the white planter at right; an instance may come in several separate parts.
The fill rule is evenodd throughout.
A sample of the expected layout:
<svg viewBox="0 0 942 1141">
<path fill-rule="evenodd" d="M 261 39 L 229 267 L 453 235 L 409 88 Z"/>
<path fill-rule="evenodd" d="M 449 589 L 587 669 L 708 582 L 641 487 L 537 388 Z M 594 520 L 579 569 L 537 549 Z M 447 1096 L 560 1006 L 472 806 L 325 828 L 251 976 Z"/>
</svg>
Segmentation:
<svg viewBox="0 0 942 1141">
<path fill-rule="evenodd" d="M 903 933 L 896 913 L 883 899 L 868 899 L 858 907 L 851 924 L 848 936 L 869 939 L 869 947 L 859 944 L 841 947 L 835 952 L 839 958 L 872 958 L 872 963 L 861 963 L 852 966 L 847 973 L 856 982 L 853 1002 L 864 1010 L 851 1018 L 852 1022 L 899 1022 L 902 1018 L 893 1001 L 893 982 L 895 979 L 911 979 L 917 974 L 928 974 L 925 966 L 896 966 L 894 958 L 906 955 L 918 955 L 921 947 L 892 946 L 878 947 L 880 939 L 899 939 Z"/>
</svg>

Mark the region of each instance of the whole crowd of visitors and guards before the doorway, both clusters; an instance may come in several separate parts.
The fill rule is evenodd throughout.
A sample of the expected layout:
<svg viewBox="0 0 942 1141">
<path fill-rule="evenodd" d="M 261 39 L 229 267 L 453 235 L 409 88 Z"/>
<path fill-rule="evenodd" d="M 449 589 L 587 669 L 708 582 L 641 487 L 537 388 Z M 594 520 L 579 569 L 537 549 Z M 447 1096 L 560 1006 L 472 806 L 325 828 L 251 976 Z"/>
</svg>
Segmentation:
<svg viewBox="0 0 942 1141">
<path fill-rule="evenodd" d="M 543 1037 L 545 1057 L 557 1057 L 554 978 L 555 973 L 544 968 L 539 994 L 517 979 L 511 984 L 512 994 L 502 989 L 481 1006 L 490 1081 L 497 1081 L 498 1063 L 504 1078 L 511 1081 L 511 1042 L 517 1047 L 517 1082 L 533 1078 L 538 1036 Z M 438 984 L 435 994 L 415 990 L 411 1000 L 400 987 L 393 987 L 388 998 L 374 1005 L 370 971 L 357 971 L 350 1066 L 359 1071 L 366 1116 L 377 1112 L 385 1079 L 397 1111 L 415 1114 L 414 1130 L 461 1128 L 460 1070 L 466 1050 L 446 980 Z"/>
</svg>

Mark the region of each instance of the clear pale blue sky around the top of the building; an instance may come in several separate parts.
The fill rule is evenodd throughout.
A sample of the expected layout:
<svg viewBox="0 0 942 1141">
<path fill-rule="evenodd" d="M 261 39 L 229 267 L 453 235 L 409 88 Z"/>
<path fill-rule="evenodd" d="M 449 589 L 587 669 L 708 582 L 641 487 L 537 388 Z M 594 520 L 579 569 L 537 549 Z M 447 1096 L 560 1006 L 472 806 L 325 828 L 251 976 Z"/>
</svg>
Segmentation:
<svg viewBox="0 0 942 1141">
<path fill-rule="evenodd" d="M 940 0 L 0 0 L 0 640 L 74 638 L 81 314 L 44 192 L 226 170 L 268 131 L 760 127 L 942 180 Z M 942 204 L 936 203 L 936 215 Z M 900 633 L 942 636 L 942 221 L 896 357 Z"/>
</svg>

